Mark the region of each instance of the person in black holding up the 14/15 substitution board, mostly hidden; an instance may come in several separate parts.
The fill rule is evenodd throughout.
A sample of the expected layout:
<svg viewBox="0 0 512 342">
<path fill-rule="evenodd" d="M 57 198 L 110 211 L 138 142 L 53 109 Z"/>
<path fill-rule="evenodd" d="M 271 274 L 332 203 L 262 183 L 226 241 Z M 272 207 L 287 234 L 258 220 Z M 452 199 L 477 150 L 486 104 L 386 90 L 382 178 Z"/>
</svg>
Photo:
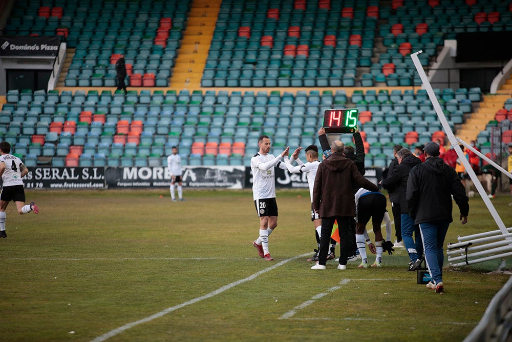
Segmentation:
<svg viewBox="0 0 512 342">
<path fill-rule="evenodd" d="M 359 129 L 357 129 L 352 136 L 354 137 L 354 143 L 355 143 L 355 151 L 352 146 L 345 146 L 343 150 L 343 154 L 346 158 L 352 160 L 352 162 L 355 163 L 355 166 L 357 167 L 357 171 L 361 175 L 365 175 L 365 145 L 362 143 L 361 133 L 359 133 Z M 320 145 L 322 146 L 323 151 L 330 150 L 329 142 L 327 140 L 327 136 L 325 134 L 325 130 L 321 128 L 318 131 L 318 140 L 320 141 Z M 354 195 L 359 190 L 359 187 L 357 185 L 354 185 Z M 354 199 L 355 200 L 355 199 Z M 355 242 L 355 219 L 350 220 L 350 227 L 349 227 L 349 261 L 357 260 L 356 257 L 356 251 L 357 251 L 357 245 Z"/>
</svg>

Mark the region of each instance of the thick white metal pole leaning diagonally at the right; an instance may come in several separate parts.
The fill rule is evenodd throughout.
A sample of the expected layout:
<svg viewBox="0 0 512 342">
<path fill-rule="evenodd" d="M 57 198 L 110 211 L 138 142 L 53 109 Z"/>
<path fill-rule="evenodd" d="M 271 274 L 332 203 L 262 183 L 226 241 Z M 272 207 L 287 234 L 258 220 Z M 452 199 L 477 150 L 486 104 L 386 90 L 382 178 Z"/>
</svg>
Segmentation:
<svg viewBox="0 0 512 342">
<path fill-rule="evenodd" d="M 490 199 L 487 197 L 487 193 L 483 189 L 482 185 L 480 184 L 480 181 L 477 178 L 477 175 L 475 174 L 475 171 L 473 171 L 471 164 L 469 160 L 466 159 L 464 153 L 462 152 L 462 149 L 460 148 L 458 142 L 459 138 L 456 138 L 452 129 L 450 128 L 450 125 L 448 124 L 448 121 L 446 120 L 446 116 L 444 116 L 444 113 L 441 109 L 441 106 L 439 105 L 439 101 L 437 100 L 436 94 L 434 93 L 434 89 L 432 89 L 432 86 L 429 82 L 429 79 L 427 78 L 425 71 L 423 70 L 423 66 L 421 65 L 418 54 L 420 54 L 423 51 L 417 51 L 411 54 L 411 58 L 413 60 L 414 66 L 416 67 L 416 70 L 418 71 L 419 76 L 421 77 L 421 82 L 423 83 L 423 86 L 426 90 L 426 92 L 429 94 L 430 101 L 432 102 L 432 105 L 434 106 L 434 109 L 437 113 L 437 116 L 439 117 L 439 120 L 441 122 L 441 125 L 443 126 L 444 132 L 446 133 L 446 136 L 448 140 L 450 141 L 450 144 L 452 144 L 453 149 L 455 152 L 457 152 L 457 156 L 461 160 L 461 163 L 464 165 L 464 168 L 466 169 L 466 172 L 468 175 L 470 175 L 471 180 L 473 181 L 473 184 L 475 185 L 475 188 L 478 190 L 478 193 L 480 194 L 480 197 L 482 197 L 483 202 L 487 206 L 487 209 L 489 210 L 490 214 L 493 216 L 496 224 L 498 225 L 498 228 L 502 232 L 502 234 L 507 234 L 508 231 L 503 224 L 503 220 L 501 219 L 500 215 L 496 211 L 496 208 L 494 208 L 493 204 L 490 202 Z M 505 237 L 505 239 L 509 242 L 509 244 L 512 246 L 512 238 Z"/>
</svg>

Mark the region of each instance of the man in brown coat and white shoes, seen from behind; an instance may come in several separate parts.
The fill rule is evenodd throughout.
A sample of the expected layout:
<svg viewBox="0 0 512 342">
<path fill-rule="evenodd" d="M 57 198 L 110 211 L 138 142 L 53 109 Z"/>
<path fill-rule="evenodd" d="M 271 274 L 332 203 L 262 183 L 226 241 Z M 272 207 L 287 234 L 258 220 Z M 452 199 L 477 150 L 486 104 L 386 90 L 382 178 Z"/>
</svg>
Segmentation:
<svg viewBox="0 0 512 342">
<path fill-rule="evenodd" d="M 343 154 L 344 145 L 336 140 L 331 145 L 332 154 L 318 166 L 313 188 L 313 210 L 322 218 L 322 235 L 318 263 L 313 270 L 325 270 L 329 237 L 334 220 L 338 222 L 340 238 L 339 270 L 347 268 L 350 218 L 355 216 L 353 184 L 370 191 L 379 188 L 362 176 L 352 160 Z"/>
</svg>

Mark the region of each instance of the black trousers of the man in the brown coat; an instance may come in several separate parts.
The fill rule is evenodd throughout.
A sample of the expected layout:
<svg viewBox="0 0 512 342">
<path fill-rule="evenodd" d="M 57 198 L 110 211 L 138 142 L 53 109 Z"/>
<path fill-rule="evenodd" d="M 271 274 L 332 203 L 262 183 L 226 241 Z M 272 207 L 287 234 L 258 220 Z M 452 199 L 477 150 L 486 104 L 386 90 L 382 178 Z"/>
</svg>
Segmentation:
<svg viewBox="0 0 512 342">
<path fill-rule="evenodd" d="M 320 250 L 318 251 L 318 264 L 324 265 L 327 261 L 327 254 L 329 253 L 329 243 L 331 240 L 332 227 L 334 221 L 338 221 L 339 233 L 339 264 L 347 265 L 347 256 L 349 253 L 349 231 L 350 231 L 350 216 L 331 216 L 322 217 L 322 236 L 320 237 Z M 355 238 L 355 236 L 354 236 Z"/>
</svg>

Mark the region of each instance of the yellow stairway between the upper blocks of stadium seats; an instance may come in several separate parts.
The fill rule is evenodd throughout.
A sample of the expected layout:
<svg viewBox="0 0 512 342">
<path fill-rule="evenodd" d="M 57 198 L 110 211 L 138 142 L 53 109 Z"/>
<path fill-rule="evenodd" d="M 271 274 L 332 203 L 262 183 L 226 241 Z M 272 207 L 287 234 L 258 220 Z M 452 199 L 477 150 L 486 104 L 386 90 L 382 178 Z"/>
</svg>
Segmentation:
<svg viewBox="0 0 512 342">
<path fill-rule="evenodd" d="M 170 86 L 198 89 L 201 87 L 208 50 L 214 36 L 221 0 L 196 0 L 192 4 L 180 52 L 176 58 Z"/>
</svg>

